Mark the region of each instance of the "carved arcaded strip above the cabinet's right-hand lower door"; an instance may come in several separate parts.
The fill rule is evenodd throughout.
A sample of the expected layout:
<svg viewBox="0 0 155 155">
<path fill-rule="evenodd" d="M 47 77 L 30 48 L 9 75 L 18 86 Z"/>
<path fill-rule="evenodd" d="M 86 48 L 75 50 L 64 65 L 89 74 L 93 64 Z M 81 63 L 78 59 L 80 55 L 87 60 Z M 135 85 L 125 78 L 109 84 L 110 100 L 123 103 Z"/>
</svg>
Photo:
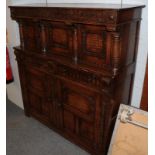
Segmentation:
<svg viewBox="0 0 155 155">
<path fill-rule="evenodd" d="M 50 63 L 49 68 L 50 69 L 52 68 L 51 70 L 52 74 L 54 73 L 55 75 L 65 77 L 73 81 L 81 82 L 83 84 L 88 84 L 89 86 L 92 86 L 95 88 L 109 91 L 108 88 L 110 88 L 109 86 L 111 83 L 110 83 L 110 79 L 108 80 L 108 78 L 106 77 L 103 78 L 102 76 L 92 72 L 78 70 L 78 69 L 74 69 L 74 68 L 61 65 L 61 64 L 56 64 L 56 63 L 54 64 Z"/>
</svg>

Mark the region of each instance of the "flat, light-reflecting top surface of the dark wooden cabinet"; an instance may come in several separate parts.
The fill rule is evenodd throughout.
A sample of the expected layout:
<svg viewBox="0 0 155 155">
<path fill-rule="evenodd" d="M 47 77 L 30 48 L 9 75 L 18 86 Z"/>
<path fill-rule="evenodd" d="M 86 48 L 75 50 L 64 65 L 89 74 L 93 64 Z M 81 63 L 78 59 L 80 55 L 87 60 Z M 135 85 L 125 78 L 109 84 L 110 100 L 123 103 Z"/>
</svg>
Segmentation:
<svg viewBox="0 0 155 155">
<path fill-rule="evenodd" d="M 47 8 L 80 8 L 80 9 L 132 9 L 143 8 L 145 5 L 128 5 L 128 4 L 104 4 L 104 3 L 34 3 L 24 5 L 12 5 L 9 7 L 47 7 Z"/>
</svg>

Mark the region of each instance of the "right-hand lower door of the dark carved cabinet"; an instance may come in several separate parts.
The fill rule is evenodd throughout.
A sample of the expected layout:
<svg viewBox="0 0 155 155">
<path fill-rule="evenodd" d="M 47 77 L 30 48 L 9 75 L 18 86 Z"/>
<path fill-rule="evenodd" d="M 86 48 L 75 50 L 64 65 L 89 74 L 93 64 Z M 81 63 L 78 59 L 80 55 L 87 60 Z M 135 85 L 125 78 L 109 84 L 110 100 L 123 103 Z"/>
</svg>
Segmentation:
<svg viewBox="0 0 155 155">
<path fill-rule="evenodd" d="M 99 144 L 100 95 L 76 83 L 59 81 L 61 128 L 88 146 Z"/>
</svg>

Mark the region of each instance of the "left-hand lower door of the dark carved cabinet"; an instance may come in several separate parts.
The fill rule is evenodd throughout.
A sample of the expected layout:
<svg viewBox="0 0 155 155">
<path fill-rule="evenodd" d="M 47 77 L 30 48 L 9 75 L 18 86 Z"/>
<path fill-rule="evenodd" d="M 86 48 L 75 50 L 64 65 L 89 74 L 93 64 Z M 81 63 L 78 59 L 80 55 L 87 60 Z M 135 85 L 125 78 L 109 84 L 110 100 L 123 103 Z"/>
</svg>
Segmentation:
<svg viewBox="0 0 155 155">
<path fill-rule="evenodd" d="M 34 64 L 25 65 L 25 76 L 28 84 L 27 98 L 30 114 L 42 121 L 49 122 L 52 98 L 48 93 L 48 76 Z"/>
</svg>

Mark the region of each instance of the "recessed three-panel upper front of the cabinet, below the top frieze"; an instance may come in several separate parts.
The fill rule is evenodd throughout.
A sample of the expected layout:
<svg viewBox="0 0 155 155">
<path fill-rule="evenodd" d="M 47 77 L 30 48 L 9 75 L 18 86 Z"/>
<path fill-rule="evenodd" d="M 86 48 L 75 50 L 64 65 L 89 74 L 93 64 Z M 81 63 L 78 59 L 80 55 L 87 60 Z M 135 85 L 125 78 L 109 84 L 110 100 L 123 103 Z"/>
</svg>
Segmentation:
<svg viewBox="0 0 155 155">
<path fill-rule="evenodd" d="M 21 47 L 28 52 L 63 56 L 74 62 L 102 65 L 109 62 L 104 26 L 67 22 L 19 22 Z"/>
</svg>

